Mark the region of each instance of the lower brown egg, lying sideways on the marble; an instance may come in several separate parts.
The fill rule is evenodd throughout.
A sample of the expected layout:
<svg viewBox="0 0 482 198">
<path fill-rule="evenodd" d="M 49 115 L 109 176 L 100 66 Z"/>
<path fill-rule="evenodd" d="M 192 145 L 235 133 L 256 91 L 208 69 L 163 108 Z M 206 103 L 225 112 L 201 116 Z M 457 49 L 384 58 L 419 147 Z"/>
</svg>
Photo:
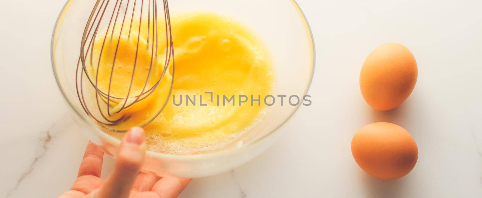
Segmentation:
<svg viewBox="0 0 482 198">
<path fill-rule="evenodd" d="M 373 123 L 363 126 L 353 136 L 351 154 L 366 173 L 391 180 L 412 171 L 418 148 L 412 136 L 401 126 Z"/>
</svg>

